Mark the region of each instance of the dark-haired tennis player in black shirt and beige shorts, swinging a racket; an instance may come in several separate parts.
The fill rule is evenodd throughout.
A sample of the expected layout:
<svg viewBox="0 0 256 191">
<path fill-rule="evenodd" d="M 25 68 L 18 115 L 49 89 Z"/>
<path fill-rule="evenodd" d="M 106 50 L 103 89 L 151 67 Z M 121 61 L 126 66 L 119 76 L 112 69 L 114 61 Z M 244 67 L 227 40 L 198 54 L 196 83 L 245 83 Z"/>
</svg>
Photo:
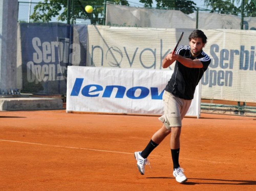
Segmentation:
<svg viewBox="0 0 256 191">
<path fill-rule="evenodd" d="M 210 57 L 202 50 L 207 42 L 204 32 L 194 30 L 188 39 L 189 46 L 179 46 L 176 53 L 174 50 L 162 61 L 163 68 L 167 68 L 176 61 L 172 77 L 163 93 L 164 115 L 159 117 L 163 126 L 155 132 L 144 150 L 134 152 L 138 170 L 143 175 L 145 164 L 149 164 L 148 155 L 172 132 L 170 146 L 173 176 L 179 183 L 187 181 L 184 170 L 179 165 L 181 121 L 190 107 L 198 82 L 211 62 Z"/>
</svg>

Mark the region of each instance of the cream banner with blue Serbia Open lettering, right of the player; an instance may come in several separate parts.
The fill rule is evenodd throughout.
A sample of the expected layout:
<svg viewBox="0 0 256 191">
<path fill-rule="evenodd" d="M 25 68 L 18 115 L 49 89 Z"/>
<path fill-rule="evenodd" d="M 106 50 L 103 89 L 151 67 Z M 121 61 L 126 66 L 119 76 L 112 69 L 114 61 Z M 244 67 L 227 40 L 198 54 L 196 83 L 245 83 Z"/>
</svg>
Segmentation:
<svg viewBox="0 0 256 191">
<path fill-rule="evenodd" d="M 256 102 L 256 31 L 204 30 L 211 63 L 202 78 L 202 98 Z"/>
</svg>

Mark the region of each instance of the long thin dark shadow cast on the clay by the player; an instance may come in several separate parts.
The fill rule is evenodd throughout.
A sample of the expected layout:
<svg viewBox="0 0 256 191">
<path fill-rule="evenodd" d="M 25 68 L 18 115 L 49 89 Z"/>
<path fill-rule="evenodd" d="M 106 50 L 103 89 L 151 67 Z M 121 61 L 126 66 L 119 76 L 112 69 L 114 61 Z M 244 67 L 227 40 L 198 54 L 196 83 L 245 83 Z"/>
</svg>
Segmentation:
<svg viewBox="0 0 256 191">
<path fill-rule="evenodd" d="M 172 177 L 146 177 L 147 179 L 174 179 Z M 204 182 L 193 182 L 191 180 L 202 180 Z M 207 182 L 210 181 L 210 182 Z M 185 185 L 195 185 L 195 184 L 223 184 L 223 185 L 256 185 L 256 180 L 223 180 L 223 179 L 193 179 L 188 178 Z"/>
</svg>

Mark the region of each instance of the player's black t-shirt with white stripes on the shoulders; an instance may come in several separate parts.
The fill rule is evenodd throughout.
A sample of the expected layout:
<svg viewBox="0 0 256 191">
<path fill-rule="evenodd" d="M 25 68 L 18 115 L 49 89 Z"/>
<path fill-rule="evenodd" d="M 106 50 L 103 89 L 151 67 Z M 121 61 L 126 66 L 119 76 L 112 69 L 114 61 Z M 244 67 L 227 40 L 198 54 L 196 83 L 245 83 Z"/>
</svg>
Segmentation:
<svg viewBox="0 0 256 191">
<path fill-rule="evenodd" d="M 183 99 L 193 99 L 197 84 L 202 78 L 204 72 L 207 70 L 211 59 L 201 52 L 196 58 L 191 55 L 189 46 L 179 46 L 176 54 L 192 60 L 198 59 L 202 62 L 202 68 L 188 68 L 179 61 L 176 61 L 172 78 L 165 87 L 167 92 L 172 93 L 176 97 Z"/>
</svg>

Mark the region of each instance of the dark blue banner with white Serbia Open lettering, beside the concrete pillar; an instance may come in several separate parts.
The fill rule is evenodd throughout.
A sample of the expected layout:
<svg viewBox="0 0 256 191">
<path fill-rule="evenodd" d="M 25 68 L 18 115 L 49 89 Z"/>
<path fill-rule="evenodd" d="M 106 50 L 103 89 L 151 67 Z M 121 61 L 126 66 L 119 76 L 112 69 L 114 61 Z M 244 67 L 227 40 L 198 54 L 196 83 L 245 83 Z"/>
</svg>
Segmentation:
<svg viewBox="0 0 256 191">
<path fill-rule="evenodd" d="M 72 25 L 20 23 L 22 91 L 66 94 L 67 66 L 72 49 Z"/>
</svg>

